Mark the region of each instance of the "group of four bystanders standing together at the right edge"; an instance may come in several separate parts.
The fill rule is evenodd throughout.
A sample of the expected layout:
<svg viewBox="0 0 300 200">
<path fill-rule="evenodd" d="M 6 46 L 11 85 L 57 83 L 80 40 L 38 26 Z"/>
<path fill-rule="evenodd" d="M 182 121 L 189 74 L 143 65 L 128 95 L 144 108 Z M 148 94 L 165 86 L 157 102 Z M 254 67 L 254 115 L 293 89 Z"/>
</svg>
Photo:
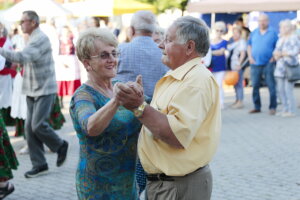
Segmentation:
<svg viewBox="0 0 300 200">
<path fill-rule="evenodd" d="M 229 40 L 223 37 L 226 25 L 222 21 L 216 22 L 212 32 L 214 37 L 211 40 L 212 59 L 209 67 L 220 87 L 221 108 L 224 108 L 224 76 L 231 70 L 237 71 L 239 78 L 234 85 L 236 100 L 230 107 L 243 108 L 244 73 L 250 67 L 254 108 L 249 113 L 261 112 L 259 90 L 266 85 L 270 94 L 269 114 L 295 116 L 297 105 L 293 91 L 296 81 L 288 80 L 287 68 L 299 63 L 300 37 L 292 21 L 282 20 L 278 34 L 269 26 L 268 15 L 262 13 L 258 18 L 258 28 L 251 33 L 240 19 L 234 23 Z M 278 102 L 282 104 L 281 110 L 277 109 Z"/>
</svg>

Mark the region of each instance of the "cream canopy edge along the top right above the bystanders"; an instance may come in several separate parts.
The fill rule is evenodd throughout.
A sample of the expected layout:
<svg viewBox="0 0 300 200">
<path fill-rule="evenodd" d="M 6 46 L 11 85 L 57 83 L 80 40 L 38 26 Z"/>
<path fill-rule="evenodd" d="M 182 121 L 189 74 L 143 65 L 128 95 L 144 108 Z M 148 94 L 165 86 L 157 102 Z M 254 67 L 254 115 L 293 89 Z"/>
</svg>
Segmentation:
<svg viewBox="0 0 300 200">
<path fill-rule="evenodd" d="M 300 0 L 191 0 L 188 12 L 230 13 L 300 10 Z"/>
</svg>

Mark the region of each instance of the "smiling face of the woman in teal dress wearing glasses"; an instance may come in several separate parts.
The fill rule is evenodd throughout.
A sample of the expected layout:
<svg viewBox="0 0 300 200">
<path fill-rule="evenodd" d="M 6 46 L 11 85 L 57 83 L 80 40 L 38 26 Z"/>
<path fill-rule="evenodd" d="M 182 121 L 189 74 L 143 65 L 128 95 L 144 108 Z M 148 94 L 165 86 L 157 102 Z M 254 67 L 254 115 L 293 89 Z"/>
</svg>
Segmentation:
<svg viewBox="0 0 300 200">
<path fill-rule="evenodd" d="M 100 40 L 95 41 L 96 50 L 92 52 L 91 58 L 85 67 L 97 79 L 112 79 L 117 73 L 117 50 Z"/>
</svg>

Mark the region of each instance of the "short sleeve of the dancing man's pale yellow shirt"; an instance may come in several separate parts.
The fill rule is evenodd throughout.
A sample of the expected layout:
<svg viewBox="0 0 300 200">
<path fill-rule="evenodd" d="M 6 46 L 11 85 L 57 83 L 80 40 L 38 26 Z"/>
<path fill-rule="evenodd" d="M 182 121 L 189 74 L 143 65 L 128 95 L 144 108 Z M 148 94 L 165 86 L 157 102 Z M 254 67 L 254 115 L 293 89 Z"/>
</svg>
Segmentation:
<svg viewBox="0 0 300 200">
<path fill-rule="evenodd" d="M 195 137 L 213 103 L 212 91 L 188 86 L 181 89 L 168 106 L 168 122 L 178 139 L 187 148 Z"/>
</svg>

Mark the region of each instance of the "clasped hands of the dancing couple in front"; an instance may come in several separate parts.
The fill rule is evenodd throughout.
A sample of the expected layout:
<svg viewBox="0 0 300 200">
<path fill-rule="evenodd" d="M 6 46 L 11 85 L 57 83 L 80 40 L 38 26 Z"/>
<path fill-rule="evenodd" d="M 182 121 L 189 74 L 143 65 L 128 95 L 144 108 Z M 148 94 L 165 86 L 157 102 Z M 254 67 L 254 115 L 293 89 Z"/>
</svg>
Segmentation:
<svg viewBox="0 0 300 200">
<path fill-rule="evenodd" d="M 144 102 L 142 76 L 138 75 L 135 82 L 116 83 L 114 85 L 114 95 L 119 105 L 128 110 L 139 107 Z"/>
</svg>

